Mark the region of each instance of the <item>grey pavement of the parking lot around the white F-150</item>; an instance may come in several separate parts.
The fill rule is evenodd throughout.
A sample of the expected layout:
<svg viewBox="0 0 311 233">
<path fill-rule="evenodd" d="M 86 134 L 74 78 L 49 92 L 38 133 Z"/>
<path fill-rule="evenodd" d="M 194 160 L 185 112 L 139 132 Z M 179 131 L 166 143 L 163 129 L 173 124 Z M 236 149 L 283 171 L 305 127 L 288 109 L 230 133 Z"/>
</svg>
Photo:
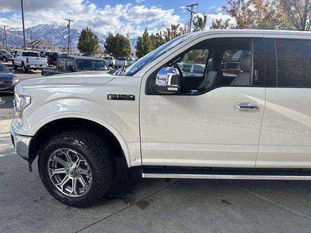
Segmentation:
<svg viewBox="0 0 311 233">
<path fill-rule="evenodd" d="M 10 68 L 10 67 L 9 67 Z M 40 72 L 20 79 L 40 77 Z M 0 233 L 310 233 L 310 181 L 127 179 L 122 169 L 111 190 L 78 209 L 54 200 L 13 150 L 12 94 L 0 94 Z M 120 164 L 120 163 L 119 163 Z"/>
</svg>

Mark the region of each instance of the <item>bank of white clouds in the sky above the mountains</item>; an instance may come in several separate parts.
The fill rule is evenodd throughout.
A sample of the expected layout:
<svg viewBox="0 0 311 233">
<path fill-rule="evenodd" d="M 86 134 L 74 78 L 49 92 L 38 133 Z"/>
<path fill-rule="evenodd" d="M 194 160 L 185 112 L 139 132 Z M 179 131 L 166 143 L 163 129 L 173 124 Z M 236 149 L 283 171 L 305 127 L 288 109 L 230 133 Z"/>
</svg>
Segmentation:
<svg viewBox="0 0 311 233">
<path fill-rule="evenodd" d="M 138 0 L 142 1 L 142 0 Z M 38 24 L 66 25 L 65 18 L 74 20 L 71 27 L 77 30 L 89 27 L 94 32 L 107 34 L 114 33 L 112 24 L 117 31 L 130 35 L 141 35 L 147 26 L 151 32 L 158 32 L 162 28 L 169 27 L 171 23 L 180 22 L 180 15 L 174 14 L 173 9 L 164 10 L 160 7 L 132 4 L 95 5 L 88 0 L 52 0 L 47 7 L 43 0 L 24 0 L 25 27 L 33 27 Z M 22 27 L 20 0 L 0 0 L 0 12 L 15 12 L 11 17 L 0 17 L 0 25 L 9 27 Z"/>
</svg>

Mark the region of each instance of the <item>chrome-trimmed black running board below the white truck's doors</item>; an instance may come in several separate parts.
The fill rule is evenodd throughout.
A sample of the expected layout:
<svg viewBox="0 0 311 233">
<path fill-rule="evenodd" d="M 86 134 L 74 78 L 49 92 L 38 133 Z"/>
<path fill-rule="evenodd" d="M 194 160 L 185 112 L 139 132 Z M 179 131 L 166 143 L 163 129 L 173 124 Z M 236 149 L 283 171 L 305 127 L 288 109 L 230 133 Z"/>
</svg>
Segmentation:
<svg viewBox="0 0 311 233">
<path fill-rule="evenodd" d="M 225 169 L 151 169 L 143 168 L 143 178 L 231 179 L 231 180 L 311 180 L 311 171 L 290 170 L 225 170 Z"/>
</svg>

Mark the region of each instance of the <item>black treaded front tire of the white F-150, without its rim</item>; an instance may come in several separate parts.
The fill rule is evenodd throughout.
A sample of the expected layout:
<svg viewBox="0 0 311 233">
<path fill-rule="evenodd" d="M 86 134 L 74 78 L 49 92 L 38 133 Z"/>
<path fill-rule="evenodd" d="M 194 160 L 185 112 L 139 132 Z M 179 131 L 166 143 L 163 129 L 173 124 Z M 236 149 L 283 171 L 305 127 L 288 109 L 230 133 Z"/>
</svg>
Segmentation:
<svg viewBox="0 0 311 233">
<path fill-rule="evenodd" d="M 69 197 L 61 193 L 51 182 L 48 161 L 53 151 L 68 148 L 77 151 L 88 163 L 92 182 L 82 197 Z M 84 208 L 102 198 L 108 191 L 116 174 L 115 157 L 107 143 L 95 133 L 68 131 L 52 137 L 39 151 L 38 170 L 42 183 L 48 192 L 60 202 Z"/>
</svg>

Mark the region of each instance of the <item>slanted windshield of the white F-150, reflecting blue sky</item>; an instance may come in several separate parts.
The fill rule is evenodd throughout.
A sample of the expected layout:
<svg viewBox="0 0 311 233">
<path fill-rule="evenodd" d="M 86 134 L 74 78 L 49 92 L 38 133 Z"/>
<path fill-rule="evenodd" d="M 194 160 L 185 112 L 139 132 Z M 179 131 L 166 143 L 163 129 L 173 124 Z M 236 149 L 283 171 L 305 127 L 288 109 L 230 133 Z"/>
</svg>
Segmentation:
<svg viewBox="0 0 311 233">
<path fill-rule="evenodd" d="M 179 45 L 180 43 L 184 42 L 185 40 L 189 39 L 191 36 L 195 35 L 195 33 L 188 33 L 181 36 L 174 38 L 173 40 L 165 43 L 164 45 L 160 46 L 159 48 L 151 51 L 147 55 L 140 58 L 137 62 L 133 63 L 133 65 L 127 67 L 124 73 L 121 74 L 125 76 L 133 76 L 143 67 L 147 66 L 149 63 L 153 62 L 156 58 L 163 55 L 164 53 L 172 50 L 174 47 Z M 119 73 L 119 72 L 117 72 Z"/>
</svg>

